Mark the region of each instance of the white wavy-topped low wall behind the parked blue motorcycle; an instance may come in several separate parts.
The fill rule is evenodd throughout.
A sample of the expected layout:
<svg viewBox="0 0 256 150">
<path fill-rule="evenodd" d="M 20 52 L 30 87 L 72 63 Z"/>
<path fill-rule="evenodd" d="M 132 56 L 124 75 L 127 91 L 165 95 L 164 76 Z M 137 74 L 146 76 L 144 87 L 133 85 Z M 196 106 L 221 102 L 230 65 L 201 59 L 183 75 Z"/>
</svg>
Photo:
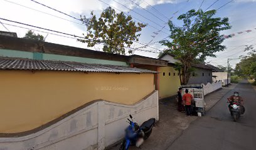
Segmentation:
<svg viewBox="0 0 256 150">
<path fill-rule="evenodd" d="M 159 119 L 158 91 L 132 106 L 97 101 L 58 123 L 28 136 L 0 138 L 4 150 L 104 149 L 124 138 L 129 116 L 142 124 L 150 118 Z"/>
</svg>

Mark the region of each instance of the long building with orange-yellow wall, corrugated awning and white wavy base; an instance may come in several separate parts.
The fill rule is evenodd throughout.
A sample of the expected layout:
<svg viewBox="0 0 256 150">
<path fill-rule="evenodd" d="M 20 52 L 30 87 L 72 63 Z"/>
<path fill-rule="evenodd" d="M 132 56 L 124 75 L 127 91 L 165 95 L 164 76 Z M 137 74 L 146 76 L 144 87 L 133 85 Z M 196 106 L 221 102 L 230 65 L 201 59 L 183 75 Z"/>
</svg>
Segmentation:
<svg viewBox="0 0 256 150">
<path fill-rule="evenodd" d="M 104 149 L 129 114 L 158 120 L 158 72 L 138 59 L 165 63 L 0 36 L 0 148 Z"/>
</svg>

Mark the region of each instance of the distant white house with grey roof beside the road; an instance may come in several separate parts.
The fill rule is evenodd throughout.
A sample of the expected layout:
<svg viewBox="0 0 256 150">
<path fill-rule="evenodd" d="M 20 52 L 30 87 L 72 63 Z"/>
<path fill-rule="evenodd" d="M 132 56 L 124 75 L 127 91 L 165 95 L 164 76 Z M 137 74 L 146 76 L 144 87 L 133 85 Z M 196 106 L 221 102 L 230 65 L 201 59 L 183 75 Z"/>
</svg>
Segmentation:
<svg viewBox="0 0 256 150">
<path fill-rule="evenodd" d="M 222 82 L 222 85 L 223 86 L 226 86 L 227 85 L 227 82 L 228 84 L 230 84 L 230 76 L 231 76 L 231 73 L 228 73 L 227 70 L 221 70 L 220 68 L 216 68 L 215 66 L 211 65 L 211 64 L 207 64 L 207 66 L 209 68 L 212 69 L 213 71 L 213 81 L 221 81 Z"/>
</svg>

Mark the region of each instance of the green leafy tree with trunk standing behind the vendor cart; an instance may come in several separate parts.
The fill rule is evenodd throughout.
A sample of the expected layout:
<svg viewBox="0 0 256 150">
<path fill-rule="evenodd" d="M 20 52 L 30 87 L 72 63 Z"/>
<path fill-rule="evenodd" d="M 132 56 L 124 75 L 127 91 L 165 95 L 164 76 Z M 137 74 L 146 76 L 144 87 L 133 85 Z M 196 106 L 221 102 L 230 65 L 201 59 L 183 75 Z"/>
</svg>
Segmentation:
<svg viewBox="0 0 256 150">
<path fill-rule="evenodd" d="M 203 12 L 201 9 L 191 9 L 178 17 L 178 20 L 183 21 L 183 26 L 174 26 L 172 21 L 168 22 L 171 41 L 166 39 L 160 43 L 168 46 L 164 53 L 178 59 L 181 84 L 188 83 L 193 64 L 203 63 L 206 56 L 216 57 L 215 52 L 225 49 L 221 45 L 224 38 L 220 31 L 230 29 L 231 26 L 227 17 L 213 17 L 215 14 L 216 10 Z"/>
</svg>

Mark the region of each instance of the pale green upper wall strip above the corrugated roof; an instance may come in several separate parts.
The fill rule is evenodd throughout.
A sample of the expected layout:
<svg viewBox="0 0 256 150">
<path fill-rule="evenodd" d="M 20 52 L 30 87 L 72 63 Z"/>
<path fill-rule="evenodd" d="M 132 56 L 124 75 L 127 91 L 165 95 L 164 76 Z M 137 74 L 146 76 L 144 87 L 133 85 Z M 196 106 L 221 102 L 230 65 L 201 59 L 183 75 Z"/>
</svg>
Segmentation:
<svg viewBox="0 0 256 150">
<path fill-rule="evenodd" d="M 65 56 L 56 54 L 42 54 L 42 53 L 31 53 L 26 51 L 16 51 L 9 49 L 0 49 L 0 56 L 10 58 L 27 58 L 36 60 L 51 60 L 51 61 L 75 61 L 78 63 L 89 63 L 89 64 L 112 64 L 119 66 L 129 66 L 129 64 L 122 61 L 108 61 L 103 59 L 92 59 L 92 58 L 80 58 L 75 56 Z"/>
</svg>

